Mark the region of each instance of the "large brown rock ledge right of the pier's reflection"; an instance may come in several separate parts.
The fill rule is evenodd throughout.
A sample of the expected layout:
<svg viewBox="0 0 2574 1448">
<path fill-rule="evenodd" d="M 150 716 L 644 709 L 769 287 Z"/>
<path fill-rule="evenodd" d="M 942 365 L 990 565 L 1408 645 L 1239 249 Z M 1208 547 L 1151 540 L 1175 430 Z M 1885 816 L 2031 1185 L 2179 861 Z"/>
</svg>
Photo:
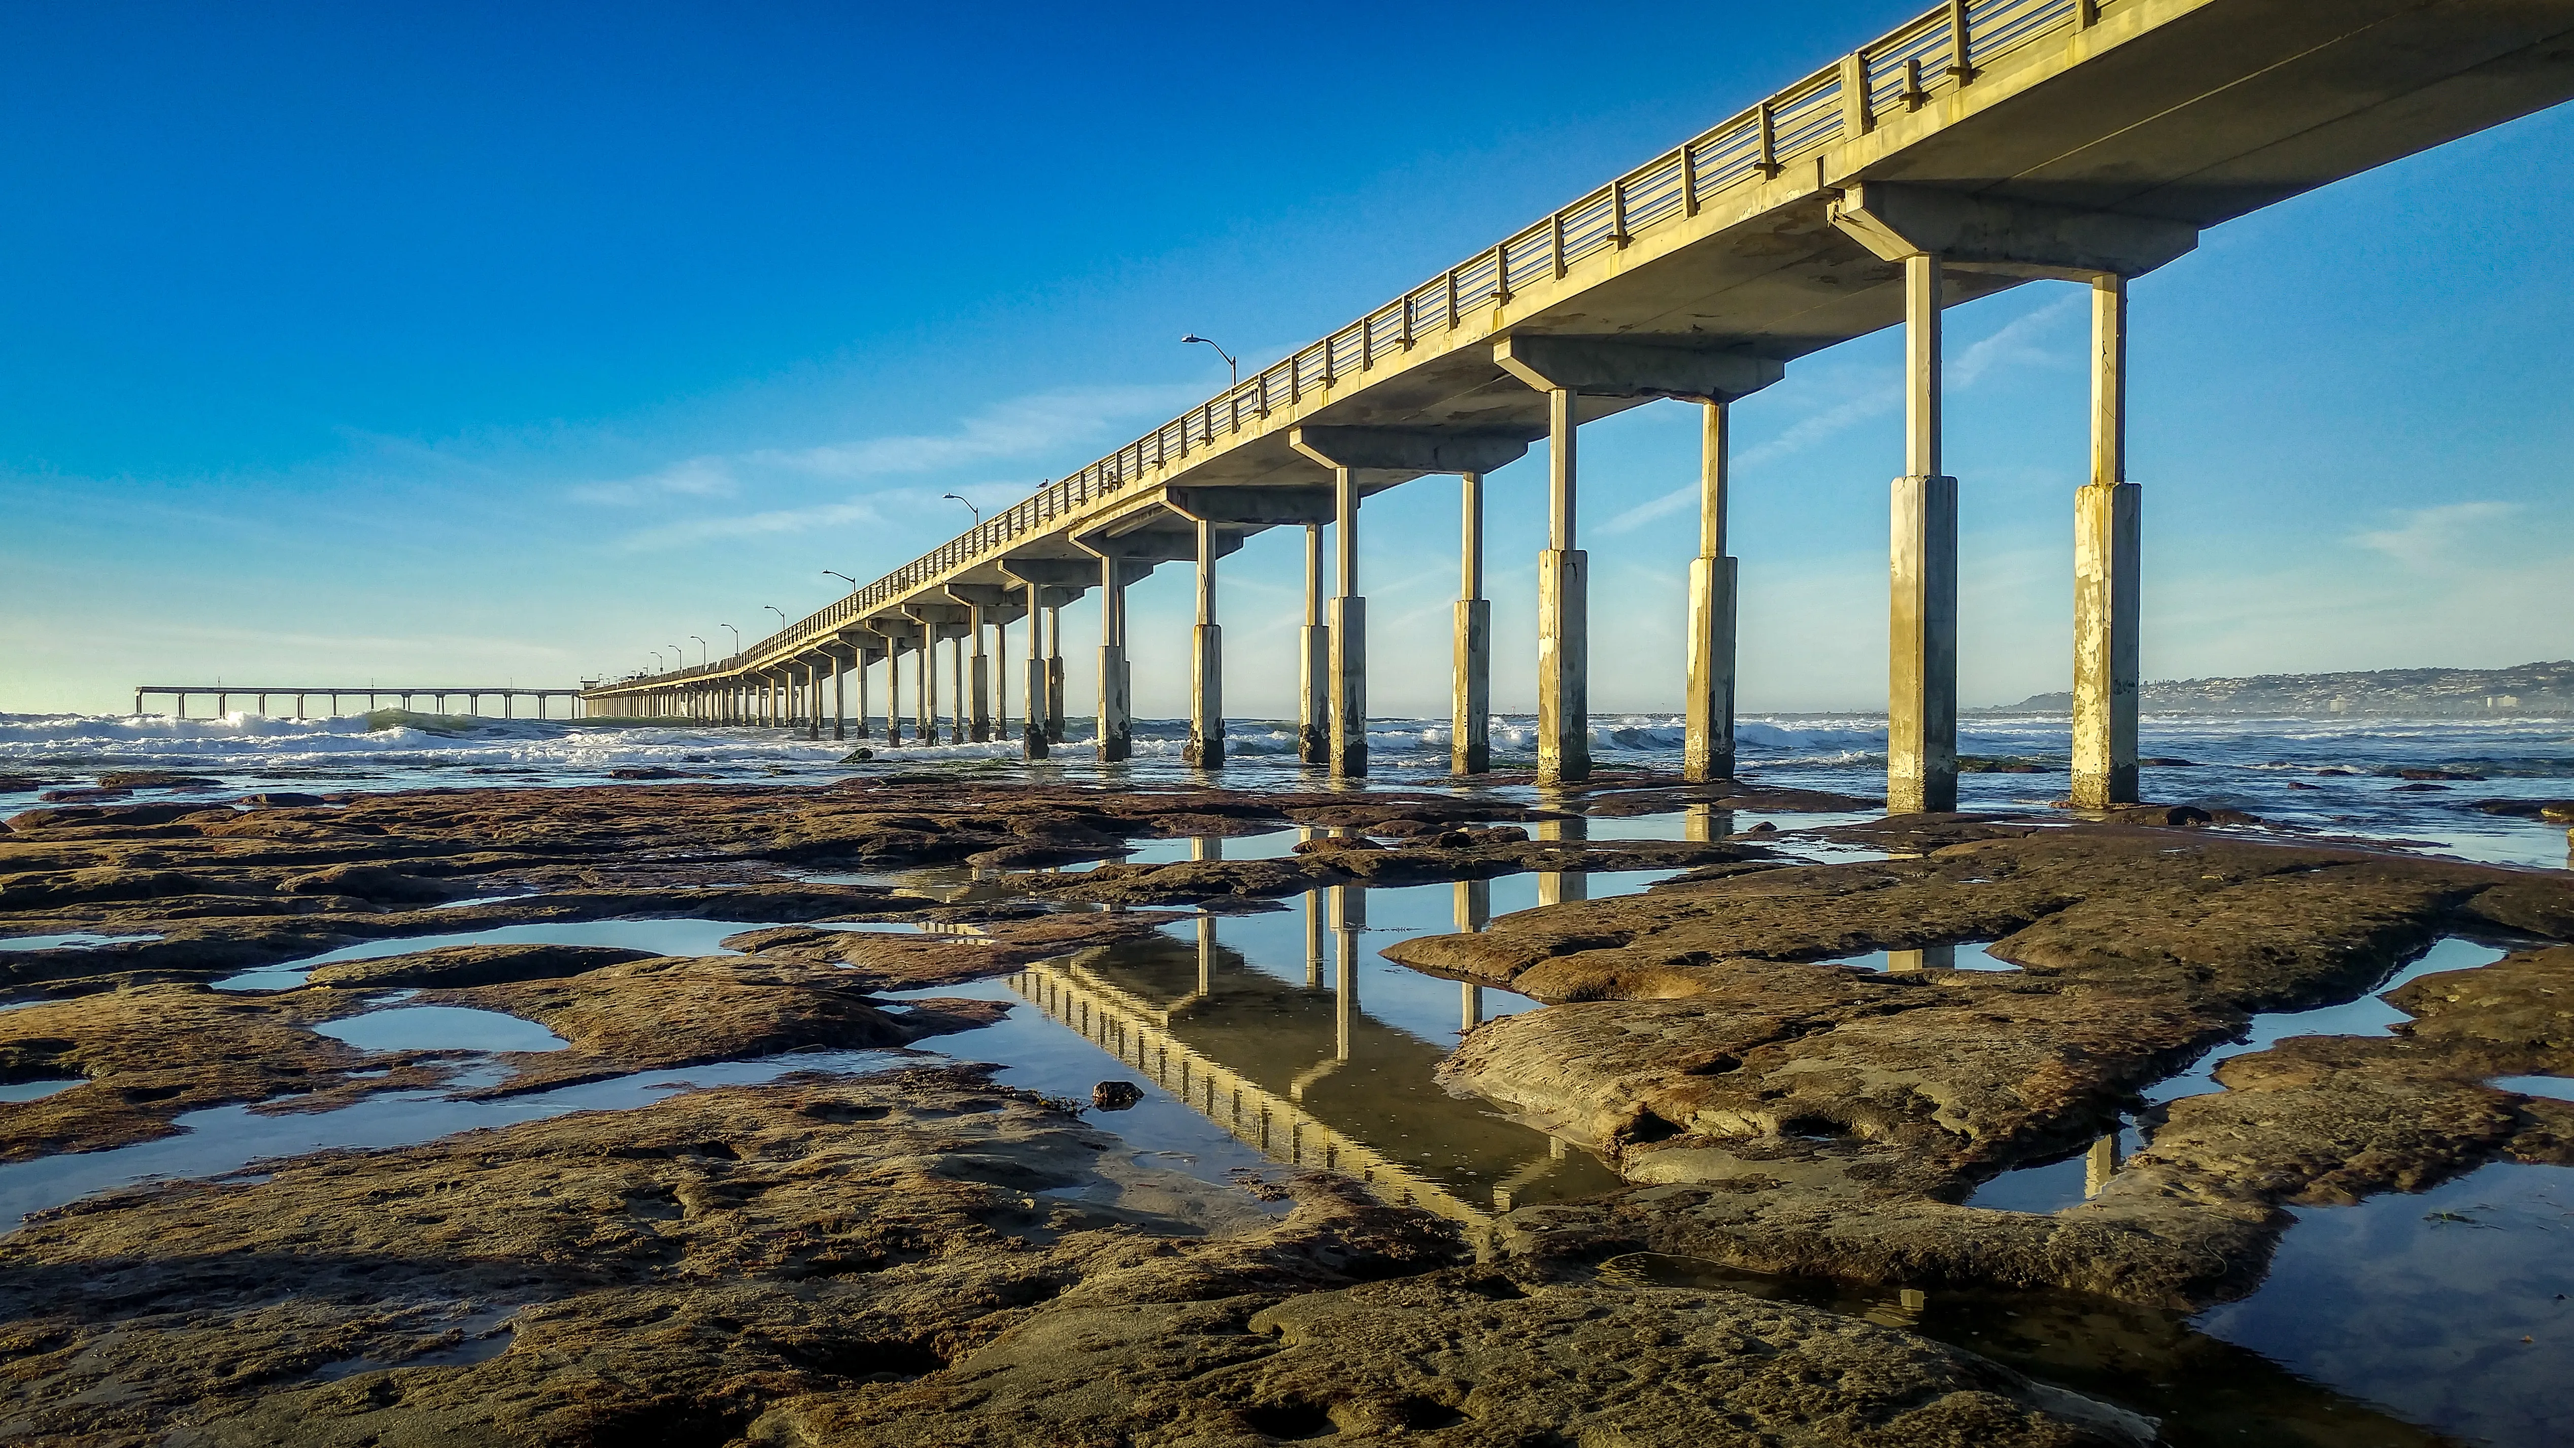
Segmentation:
<svg viewBox="0 0 2574 1448">
<path fill-rule="evenodd" d="M 1441 1077 L 1637 1183 L 1508 1214 L 1506 1252 L 2188 1309 L 2260 1281 L 2286 1206 L 2574 1165 L 2574 1105 L 2486 1085 L 2574 1074 L 2564 873 L 2193 830 L 1874 835 L 1897 858 L 1704 873 L 1387 948 L 1557 1002 L 1480 1025 Z M 2394 992 L 2414 1020 L 2391 1036 L 2288 1038 L 2144 1100 L 2255 1013 L 2358 1000 L 2445 935 L 2517 948 Z M 2015 969 L 1835 964 L 1959 943 Z M 2085 1201 L 1961 1206 L 2003 1170 L 2100 1152 L 2121 1118 L 2149 1144 Z"/>
</svg>

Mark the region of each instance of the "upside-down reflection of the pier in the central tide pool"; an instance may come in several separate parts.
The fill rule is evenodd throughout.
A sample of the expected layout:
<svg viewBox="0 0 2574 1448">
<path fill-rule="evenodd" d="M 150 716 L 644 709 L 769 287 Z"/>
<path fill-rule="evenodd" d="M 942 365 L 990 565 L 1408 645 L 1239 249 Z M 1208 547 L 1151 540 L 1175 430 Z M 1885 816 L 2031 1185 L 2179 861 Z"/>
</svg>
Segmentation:
<svg viewBox="0 0 2574 1448">
<path fill-rule="evenodd" d="M 1660 873 L 1604 876 L 1619 889 L 1645 879 Z M 1351 1175 L 1480 1229 L 1511 1206 L 1619 1180 L 1588 1152 L 1431 1080 L 1462 1031 L 1537 1002 L 1408 971 L 1377 946 L 1480 930 L 1495 894 L 1516 910 L 1544 889 L 1539 876 L 1320 889 L 1287 912 L 1202 915 L 1009 984 L 1264 1157 Z"/>
</svg>

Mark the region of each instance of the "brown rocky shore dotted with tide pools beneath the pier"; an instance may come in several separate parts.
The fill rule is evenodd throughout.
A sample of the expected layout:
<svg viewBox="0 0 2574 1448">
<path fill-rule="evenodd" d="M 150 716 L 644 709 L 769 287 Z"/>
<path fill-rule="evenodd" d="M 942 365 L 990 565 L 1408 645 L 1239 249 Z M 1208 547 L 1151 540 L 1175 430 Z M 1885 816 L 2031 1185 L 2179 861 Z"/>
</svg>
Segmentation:
<svg viewBox="0 0 2574 1448">
<path fill-rule="evenodd" d="M 2288 1208 L 2574 1165 L 2574 1103 L 2494 1085 L 2574 1072 L 2564 873 L 2206 822 L 1902 817 L 1804 832 L 1820 853 L 1583 827 L 1866 804 L 893 773 L 18 814 L 0 935 L 93 943 L 0 951 L 0 1085 L 77 1082 L 0 1100 L 0 1180 L 208 1108 L 780 1074 L 36 1211 L 0 1237 L 0 1440 L 2193 1443 L 2116 1373 L 2077 1391 L 2044 1353 L 2005 1366 L 1866 1304 L 2000 1293 L 2149 1340 L 2257 1286 Z M 1220 858 L 1284 827 L 1295 853 Z M 1115 863 L 1179 837 L 1199 858 Z M 896 879 L 921 868 L 963 884 Z M 1331 1175 L 1169 1170 L 1081 1100 L 921 1054 L 1004 1010 L 937 992 L 1202 910 L 1647 868 L 1686 873 L 1385 948 L 1544 1002 L 1472 1028 L 1441 1077 L 1627 1183 L 1483 1239 Z M 682 956 L 432 940 L 638 917 L 741 930 Z M 2286 1038 L 2154 1095 L 2443 938 L 2502 958 L 2391 992 L 2391 1033 Z M 1985 969 L 1954 969 L 1961 946 Z M 322 953 L 355 958 L 304 966 Z M 329 1033 L 389 1007 L 559 1043 Z M 2093 1147 L 2121 1131 L 2144 1149 Z M 2108 1159 L 2075 1206 L 1967 1206 L 2088 1149 Z M 2347 1402 L 2314 1422 L 2275 1440 L 2440 1440 Z"/>
</svg>

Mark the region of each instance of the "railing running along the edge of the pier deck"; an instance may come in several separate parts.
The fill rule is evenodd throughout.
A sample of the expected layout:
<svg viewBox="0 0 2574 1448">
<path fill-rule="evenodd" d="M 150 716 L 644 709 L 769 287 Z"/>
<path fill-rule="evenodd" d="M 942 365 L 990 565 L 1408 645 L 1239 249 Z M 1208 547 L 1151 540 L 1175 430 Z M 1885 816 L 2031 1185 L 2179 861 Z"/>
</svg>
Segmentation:
<svg viewBox="0 0 2574 1448">
<path fill-rule="evenodd" d="M 788 624 L 723 662 L 631 680 L 623 688 L 728 675 L 749 660 L 764 660 L 873 616 L 934 577 L 1048 533 L 1055 520 L 1125 492 L 1218 438 L 1238 435 L 1246 423 L 1264 423 L 1272 407 L 1302 405 L 1308 392 L 1326 392 L 1344 376 L 1375 371 L 1377 358 L 1411 350 L 1426 332 L 1459 327 L 1475 307 L 1508 301 L 1532 283 L 1562 281 L 1573 263 L 1627 247 L 1640 232 L 1665 222 L 1696 216 L 1725 191 L 1773 180 L 1789 162 L 1866 134 L 1882 116 L 1918 111 L 1938 95 L 1972 85 L 1995 59 L 2051 33 L 2088 28 L 2103 10 L 2124 3 L 2131 0 L 1949 0 L 1338 332 L 1246 376 L 1086 469 L 1040 487 L 1032 497 L 983 518 L 839 603 Z"/>
</svg>

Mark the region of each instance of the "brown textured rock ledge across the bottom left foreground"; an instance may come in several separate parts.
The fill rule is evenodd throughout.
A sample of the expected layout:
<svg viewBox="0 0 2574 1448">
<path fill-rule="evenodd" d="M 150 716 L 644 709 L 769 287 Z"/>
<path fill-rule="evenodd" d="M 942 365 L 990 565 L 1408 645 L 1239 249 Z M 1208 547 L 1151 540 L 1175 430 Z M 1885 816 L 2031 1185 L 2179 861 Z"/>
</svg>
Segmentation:
<svg viewBox="0 0 2574 1448">
<path fill-rule="evenodd" d="M 973 1072 L 731 1087 L 0 1239 L 0 1435 L 201 1445 L 1779 1443 L 2149 1425 L 1730 1291 L 1475 1268 L 1436 1216 L 1238 1190 Z"/>
</svg>

